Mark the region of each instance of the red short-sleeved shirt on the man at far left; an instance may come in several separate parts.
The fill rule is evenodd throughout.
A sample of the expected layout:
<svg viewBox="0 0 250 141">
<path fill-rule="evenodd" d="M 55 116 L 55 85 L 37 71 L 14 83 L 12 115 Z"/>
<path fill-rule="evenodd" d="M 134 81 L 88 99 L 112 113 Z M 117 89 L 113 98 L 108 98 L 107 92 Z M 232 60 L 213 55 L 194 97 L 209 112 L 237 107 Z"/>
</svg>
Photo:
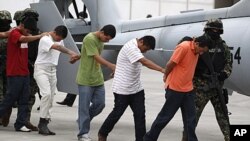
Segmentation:
<svg viewBox="0 0 250 141">
<path fill-rule="evenodd" d="M 13 29 L 8 37 L 7 44 L 7 76 L 29 75 L 28 44 L 19 42 L 22 36 L 18 28 Z"/>
</svg>

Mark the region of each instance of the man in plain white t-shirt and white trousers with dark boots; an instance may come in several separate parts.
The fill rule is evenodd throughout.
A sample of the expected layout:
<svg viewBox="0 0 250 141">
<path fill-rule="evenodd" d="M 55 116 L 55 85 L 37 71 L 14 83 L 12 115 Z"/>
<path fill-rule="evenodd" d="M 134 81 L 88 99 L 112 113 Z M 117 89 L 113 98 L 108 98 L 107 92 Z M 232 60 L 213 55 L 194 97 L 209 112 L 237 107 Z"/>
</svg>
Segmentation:
<svg viewBox="0 0 250 141">
<path fill-rule="evenodd" d="M 64 25 L 57 26 L 48 36 L 40 39 L 38 55 L 35 61 L 34 78 L 42 96 L 40 103 L 39 134 L 55 135 L 48 128 L 51 119 L 51 108 L 56 92 L 56 66 L 60 53 L 70 56 L 70 63 L 80 59 L 80 55 L 64 47 L 63 39 L 67 37 L 68 29 Z"/>
</svg>

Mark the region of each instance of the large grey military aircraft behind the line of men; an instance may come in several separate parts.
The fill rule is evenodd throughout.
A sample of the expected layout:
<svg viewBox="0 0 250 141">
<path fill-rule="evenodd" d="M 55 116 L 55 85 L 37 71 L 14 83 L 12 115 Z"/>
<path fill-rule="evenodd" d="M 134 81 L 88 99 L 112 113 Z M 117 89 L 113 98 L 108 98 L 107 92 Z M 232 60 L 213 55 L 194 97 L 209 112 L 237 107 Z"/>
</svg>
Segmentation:
<svg viewBox="0 0 250 141">
<path fill-rule="evenodd" d="M 74 1 L 73 1 L 74 2 Z M 225 87 L 238 93 L 250 96 L 250 1 L 241 0 L 236 4 L 213 10 L 186 11 L 178 15 L 165 15 L 139 20 L 123 20 L 119 15 L 115 0 L 83 0 L 90 20 L 84 18 L 65 19 L 54 2 L 31 4 L 39 13 L 38 27 L 42 31 L 50 31 L 56 25 L 64 24 L 70 35 L 65 44 L 78 51 L 82 38 L 89 32 L 96 31 L 106 24 L 113 24 L 117 29 L 116 37 L 105 44 L 102 56 L 115 63 L 120 48 L 132 38 L 153 35 L 156 38 L 154 51 L 146 53 L 146 57 L 161 66 L 169 60 L 177 42 L 184 36 L 199 36 L 207 20 L 220 18 L 224 25 L 222 38 L 230 46 L 233 60 L 233 72 Z M 77 10 L 76 10 L 77 12 Z M 86 11 L 85 11 L 86 12 Z M 86 15 L 86 13 L 85 13 Z M 78 15 L 79 16 L 79 15 Z M 65 16 L 66 17 L 66 16 Z M 79 40 L 80 39 L 80 40 Z M 71 65 L 64 55 L 58 65 L 58 90 L 77 94 L 75 76 L 78 63 Z M 105 80 L 109 79 L 110 70 L 103 67 Z"/>
</svg>

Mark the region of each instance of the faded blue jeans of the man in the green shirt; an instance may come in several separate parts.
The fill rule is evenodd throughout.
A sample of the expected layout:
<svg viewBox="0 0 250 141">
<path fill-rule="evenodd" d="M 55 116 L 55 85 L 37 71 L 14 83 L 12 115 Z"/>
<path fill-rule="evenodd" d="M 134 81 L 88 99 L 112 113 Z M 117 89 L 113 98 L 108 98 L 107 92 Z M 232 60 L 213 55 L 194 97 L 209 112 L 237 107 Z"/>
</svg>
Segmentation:
<svg viewBox="0 0 250 141">
<path fill-rule="evenodd" d="M 90 121 L 100 114 L 105 107 L 105 89 L 101 86 L 78 85 L 78 137 L 87 134 L 90 129 Z"/>
</svg>

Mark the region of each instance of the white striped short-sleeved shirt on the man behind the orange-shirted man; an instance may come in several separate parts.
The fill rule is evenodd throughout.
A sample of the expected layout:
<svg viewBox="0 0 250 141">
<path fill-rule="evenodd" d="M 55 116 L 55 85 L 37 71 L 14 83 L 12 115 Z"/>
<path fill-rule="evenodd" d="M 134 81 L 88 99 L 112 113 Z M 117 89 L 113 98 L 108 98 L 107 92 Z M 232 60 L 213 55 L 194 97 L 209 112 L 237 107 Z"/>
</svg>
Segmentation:
<svg viewBox="0 0 250 141">
<path fill-rule="evenodd" d="M 143 57 L 136 39 L 130 40 L 122 47 L 116 63 L 113 92 L 129 95 L 143 90 L 140 81 L 142 64 L 138 61 Z"/>
</svg>

